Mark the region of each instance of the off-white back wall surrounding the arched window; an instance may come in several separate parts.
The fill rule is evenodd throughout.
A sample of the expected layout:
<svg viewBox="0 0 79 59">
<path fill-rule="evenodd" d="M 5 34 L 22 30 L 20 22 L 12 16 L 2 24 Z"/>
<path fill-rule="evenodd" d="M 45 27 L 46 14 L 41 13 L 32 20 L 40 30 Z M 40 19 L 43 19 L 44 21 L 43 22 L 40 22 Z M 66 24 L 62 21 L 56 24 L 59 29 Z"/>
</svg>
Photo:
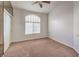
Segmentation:
<svg viewBox="0 0 79 59">
<path fill-rule="evenodd" d="M 35 14 L 41 18 L 41 33 L 25 35 L 25 16 Z M 14 9 L 12 21 L 12 42 L 47 37 L 47 14 Z"/>
</svg>

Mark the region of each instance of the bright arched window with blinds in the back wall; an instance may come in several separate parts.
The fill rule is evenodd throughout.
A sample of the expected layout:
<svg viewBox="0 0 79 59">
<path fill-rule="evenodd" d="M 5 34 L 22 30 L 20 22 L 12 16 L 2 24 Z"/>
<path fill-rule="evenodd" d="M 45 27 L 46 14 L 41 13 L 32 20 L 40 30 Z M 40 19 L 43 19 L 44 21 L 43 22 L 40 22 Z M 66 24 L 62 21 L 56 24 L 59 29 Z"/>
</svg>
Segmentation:
<svg viewBox="0 0 79 59">
<path fill-rule="evenodd" d="M 40 33 L 40 17 L 28 15 L 25 17 L 25 34 Z"/>
</svg>

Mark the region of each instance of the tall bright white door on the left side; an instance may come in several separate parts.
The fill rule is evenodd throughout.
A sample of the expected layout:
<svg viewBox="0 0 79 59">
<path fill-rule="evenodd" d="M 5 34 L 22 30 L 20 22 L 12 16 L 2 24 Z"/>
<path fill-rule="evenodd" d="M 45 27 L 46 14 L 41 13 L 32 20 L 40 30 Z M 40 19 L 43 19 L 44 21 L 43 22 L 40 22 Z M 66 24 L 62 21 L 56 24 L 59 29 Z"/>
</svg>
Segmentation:
<svg viewBox="0 0 79 59">
<path fill-rule="evenodd" d="M 10 14 L 4 9 L 4 52 L 8 49 L 10 44 Z"/>
</svg>

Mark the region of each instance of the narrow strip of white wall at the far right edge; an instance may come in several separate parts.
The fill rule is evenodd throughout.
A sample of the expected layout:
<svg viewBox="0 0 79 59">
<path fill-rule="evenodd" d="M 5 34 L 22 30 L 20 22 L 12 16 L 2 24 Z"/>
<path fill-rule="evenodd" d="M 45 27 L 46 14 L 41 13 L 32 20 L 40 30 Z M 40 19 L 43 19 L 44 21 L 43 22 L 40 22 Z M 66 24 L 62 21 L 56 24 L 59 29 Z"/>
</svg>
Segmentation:
<svg viewBox="0 0 79 59">
<path fill-rule="evenodd" d="M 74 2 L 74 48 L 79 53 L 79 2 Z"/>
</svg>

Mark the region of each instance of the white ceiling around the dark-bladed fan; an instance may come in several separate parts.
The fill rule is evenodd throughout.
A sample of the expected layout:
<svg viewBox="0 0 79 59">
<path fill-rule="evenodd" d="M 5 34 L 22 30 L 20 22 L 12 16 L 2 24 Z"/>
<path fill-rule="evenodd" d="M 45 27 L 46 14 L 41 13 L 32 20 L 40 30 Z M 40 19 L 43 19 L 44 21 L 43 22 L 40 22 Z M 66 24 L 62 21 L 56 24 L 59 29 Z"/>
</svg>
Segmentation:
<svg viewBox="0 0 79 59">
<path fill-rule="evenodd" d="M 13 8 L 24 9 L 33 12 L 49 13 L 53 8 L 53 1 L 50 4 L 42 3 L 43 8 L 40 8 L 38 4 L 32 5 L 35 1 L 11 1 Z"/>
</svg>

